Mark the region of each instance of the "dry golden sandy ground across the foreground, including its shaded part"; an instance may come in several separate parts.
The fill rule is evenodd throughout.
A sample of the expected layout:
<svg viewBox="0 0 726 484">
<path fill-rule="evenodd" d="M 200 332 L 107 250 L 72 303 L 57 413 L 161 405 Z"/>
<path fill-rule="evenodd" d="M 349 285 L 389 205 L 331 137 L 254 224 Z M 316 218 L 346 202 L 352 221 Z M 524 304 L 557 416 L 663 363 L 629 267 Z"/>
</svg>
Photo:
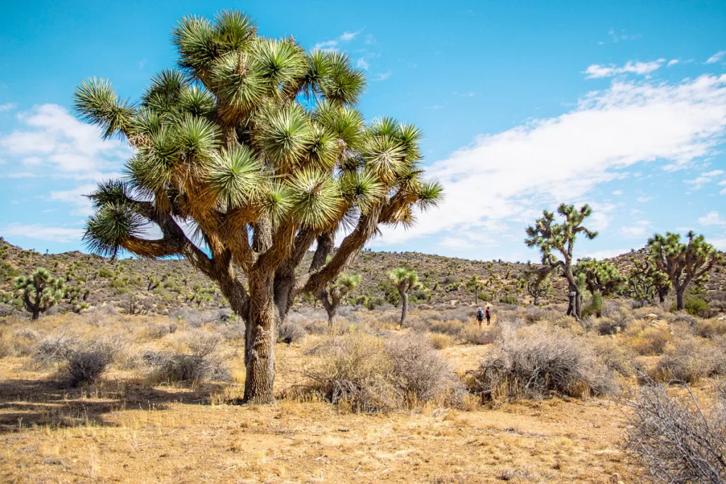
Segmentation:
<svg viewBox="0 0 726 484">
<path fill-rule="evenodd" d="M 486 347 L 443 350 L 458 372 Z M 279 384 L 300 348 L 279 345 Z M 285 377 L 282 375 L 285 374 Z M 348 414 L 321 402 L 230 401 L 239 383 L 149 387 L 120 372 L 91 393 L 0 361 L 3 483 L 629 482 L 611 401 Z M 613 475 L 616 475 L 613 478 Z"/>
</svg>

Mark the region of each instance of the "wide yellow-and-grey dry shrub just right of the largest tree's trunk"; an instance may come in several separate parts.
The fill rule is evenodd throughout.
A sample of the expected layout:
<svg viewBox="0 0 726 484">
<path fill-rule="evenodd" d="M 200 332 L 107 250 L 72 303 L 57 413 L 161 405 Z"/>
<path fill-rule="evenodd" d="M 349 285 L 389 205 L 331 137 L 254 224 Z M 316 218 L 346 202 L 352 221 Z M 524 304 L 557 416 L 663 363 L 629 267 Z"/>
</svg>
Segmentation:
<svg viewBox="0 0 726 484">
<path fill-rule="evenodd" d="M 333 336 L 314 348 L 305 391 L 354 411 L 402 409 L 452 392 L 457 380 L 428 337 L 407 333 L 386 342 L 367 334 Z M 460 388 L 460 387 L 459 387 Z"/>
</svg>

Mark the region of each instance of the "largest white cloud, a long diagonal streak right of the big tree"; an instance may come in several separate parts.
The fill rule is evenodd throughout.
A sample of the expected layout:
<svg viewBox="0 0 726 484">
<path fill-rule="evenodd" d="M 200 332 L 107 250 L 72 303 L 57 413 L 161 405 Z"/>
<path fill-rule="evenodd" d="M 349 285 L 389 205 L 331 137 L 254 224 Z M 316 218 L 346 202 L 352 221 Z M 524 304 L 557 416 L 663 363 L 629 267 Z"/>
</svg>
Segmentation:
<svg viewBox="0 0 726 484">
<path fill-rule="evenodd" d="M 635 163 L 684 168 L 714 154 L 724 134 L 726 75 L 680 83 L 613 81 L 570 112 L 477 136 L 433 163 L 427 173 L 444 185 L 446 200 L 408 231 L 384 228 L 380 242 L 457 236 L 492 221 L 530 223 L 542 208 L 583 200 Z"/>
</svg>

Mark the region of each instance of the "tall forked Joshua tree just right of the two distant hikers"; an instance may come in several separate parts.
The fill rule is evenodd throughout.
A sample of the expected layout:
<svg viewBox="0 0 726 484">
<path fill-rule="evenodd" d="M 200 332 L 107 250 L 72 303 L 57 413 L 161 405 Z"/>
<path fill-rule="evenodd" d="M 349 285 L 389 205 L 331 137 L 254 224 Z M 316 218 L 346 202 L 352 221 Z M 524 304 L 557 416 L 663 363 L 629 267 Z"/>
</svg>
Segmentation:
<svg viewBox="0 0 726 484">
<path fill-rule="evenodd" d="M 541 275 L 557 269 L 562 271 L 568 283 L 567 314 L 579 320 L 582 319 L 582 287 L 578 284 L 572 266 L 575 240 L 578 234 L 594 239 L 597 232 L 582 225 L 585 218 L 592 215 L 592 208 L 587 204 L 578 210 L 574 205 L 563 203 L 557 208 L 557 213 L 564 218 L 561 223 L 555 221 L 555 213 L 542 211 L 542 217 L 534 222 L 534 226 L 527 227 L 524 243 L 527 247 L 539 247 L 542 254 Z"/>
</svg>

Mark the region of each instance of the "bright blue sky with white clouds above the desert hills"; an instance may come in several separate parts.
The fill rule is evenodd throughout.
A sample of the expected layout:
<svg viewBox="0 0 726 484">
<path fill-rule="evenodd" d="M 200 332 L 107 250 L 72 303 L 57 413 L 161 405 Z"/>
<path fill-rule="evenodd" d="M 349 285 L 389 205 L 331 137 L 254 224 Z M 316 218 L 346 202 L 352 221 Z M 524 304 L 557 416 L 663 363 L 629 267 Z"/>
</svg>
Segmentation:
<svg viewBox="0 0 726 484">
<path fill-rule="evenodd" d="M 136 99 L 174 64 L 182 15 L 243 9 L 266 36 L 348 52 L 367 70 L 361 109 L 425 132 L 446 202 L 370 247 L 536 259 L 524 227 L 590 202 L 600 231 L 579 255 L 694 229 L 726 250 L 726 3 L 15 2 L 0 18 L 0 236 L 82 249 L 81 196 L 129 148 L 70 115 L 82 78 Z"/>
</svg>

